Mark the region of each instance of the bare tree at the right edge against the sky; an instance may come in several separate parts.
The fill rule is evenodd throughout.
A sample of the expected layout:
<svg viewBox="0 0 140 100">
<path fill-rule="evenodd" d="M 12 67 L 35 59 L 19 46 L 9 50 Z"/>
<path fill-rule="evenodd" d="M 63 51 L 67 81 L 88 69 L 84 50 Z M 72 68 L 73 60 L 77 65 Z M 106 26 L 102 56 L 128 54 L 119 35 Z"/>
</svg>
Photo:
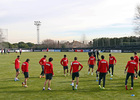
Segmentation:
<svg viewBox="0 0 140 100">
<path fill-rule="evenodd" d="M 140 5 L 137 5 L 136 7 L 134 24 L 135 24 L 135 28 L 134 28 L 135 34 L 140 35 Z"/>
</svg>

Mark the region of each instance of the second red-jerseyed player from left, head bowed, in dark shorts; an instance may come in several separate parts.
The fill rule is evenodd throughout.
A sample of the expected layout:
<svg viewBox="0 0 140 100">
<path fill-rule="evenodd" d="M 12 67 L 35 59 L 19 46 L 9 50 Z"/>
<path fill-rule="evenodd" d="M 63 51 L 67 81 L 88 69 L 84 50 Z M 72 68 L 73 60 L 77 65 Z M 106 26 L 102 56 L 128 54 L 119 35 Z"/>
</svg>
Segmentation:
<svg viewBox="0 0 140 100">
<path fill-rule="evenodd" d="M 22 86 L 24 86 L 24 87 L 28 87 L 27 80 L 29 78 L 29 70 L 28 70 L 29 61 L 30 61 L 30 59 L 27 59 L 24 63 L 22 63 L 22 66 L 21 66 L 22 73 L 24 74 L 24 77 L 25 77 L 24 82 L 22 82 Z"/>
</svg>

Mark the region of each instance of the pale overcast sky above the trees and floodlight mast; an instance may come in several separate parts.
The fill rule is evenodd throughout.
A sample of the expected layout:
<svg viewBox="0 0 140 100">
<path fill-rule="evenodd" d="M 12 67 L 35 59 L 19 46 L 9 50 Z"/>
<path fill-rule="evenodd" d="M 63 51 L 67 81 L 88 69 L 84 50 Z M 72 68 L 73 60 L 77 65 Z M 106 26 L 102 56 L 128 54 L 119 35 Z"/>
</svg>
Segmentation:
<svg viewBox="0 0 140 100">
<path fill-rule="evenodd" d="M 130 36 L 138 4 L 140 0 L 0 0 L 0 28 L 8 29 L 11 43 L 37 43 L 36 20 L 41 21 L 40 42 Z"/>
</svg>

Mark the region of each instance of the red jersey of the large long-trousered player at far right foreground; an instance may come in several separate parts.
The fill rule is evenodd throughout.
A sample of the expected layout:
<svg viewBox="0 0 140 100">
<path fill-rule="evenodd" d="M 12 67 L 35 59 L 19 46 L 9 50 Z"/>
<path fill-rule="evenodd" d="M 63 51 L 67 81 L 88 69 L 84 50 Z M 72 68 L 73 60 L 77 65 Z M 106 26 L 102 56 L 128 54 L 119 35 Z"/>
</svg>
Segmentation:
<svg viewBox="0 0 140 100">
<path fill-rule="evenodd" d="M 127 72 L 128 73 L 134 73 L 134 71 L 138 71 L 138 64 L 134 61 L 128 61 L 126 65 L 126 69 L 128 68 Z"/>
</svg>

